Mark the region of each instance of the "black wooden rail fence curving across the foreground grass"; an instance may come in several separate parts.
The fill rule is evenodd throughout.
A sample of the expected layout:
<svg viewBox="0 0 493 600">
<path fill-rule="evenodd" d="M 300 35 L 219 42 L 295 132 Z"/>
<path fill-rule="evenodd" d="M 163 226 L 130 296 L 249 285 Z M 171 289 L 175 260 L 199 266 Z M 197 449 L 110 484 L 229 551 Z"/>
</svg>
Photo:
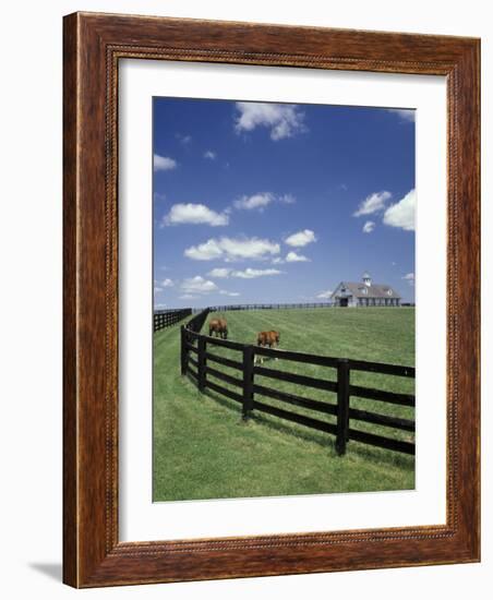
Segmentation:
<svg viewBox="0 0 493 600">
<path fill-rule="evenodd" d="M 201 335 L 201 327 L 207 319 L 208 313 L 209 309 L 206 309 L 194 316 L 185 326 L 182 325 L 181 327 L 181 373 L 182 375 L 190 375 L 201 392 L 208 388 L 238 401 L 242 406 L 243 419 L 250 418 L 253 411 L 257 410 L 279 417 L 280 419 L 300 423 L 311 429 L 332 433 L 336 435 L 336 448 L 339 455 L 346 453 L 346 445 L 350 440 L 405 454 L 414 454 L 413 442 L 377 435 L 351 427 L 352 422 L 362 421 L 413 433 L 416 427 L 414 420 L 361 410 L 350 405 L 351 397 L 359 397 L 369 398 L 376 403 L 388 403 L 413 408 L 413 395 L 397 394 L 372 387 L 352 385 L 350 382 L 350 373 L 351 371 L 365 371 L 413 379 L 414 368 L 344 358 L 322 357 L 303 352 L 293 352 L 290 350 L 261 348 L 248 344 L 239 344 L 237 341 Z M 232 360 L 212 352 L 211 350 L 214 349 L 214 347 L 238 351 L 240 355 L 239 360 Z M 255 356 L 278 358 L 336 369 L 337 380 L 327 381 L 265 368 L 255 363 Z M 220 371 L 220 365 L 236 369 L 239 372 L 239 376 L 232 376 Z M 332 404 L 288 394 L 275 387 L 257 383 L 255 381 L 256 375 L 274 380 L 274 382 L 289 382 L 308 388 L 332 392 L 336 394 L 337 400 L 335 404 Z M 233 392 L 224 387 L 220 383 L 217 383 L 217 380 L 237 387 L 238 391 Z M 273 398 L 286 405 L 299 406 L 315 412 L 333 415 L 336 417 L 336 423 L 325 422 L 313 417 L 300 415 L 291 410 L 286 410 L 285 408 L 278 408 L 277 406 L 272 406 L 264 401 L 258 401 L 255 399 L 255 394 Z"/>
</svg>

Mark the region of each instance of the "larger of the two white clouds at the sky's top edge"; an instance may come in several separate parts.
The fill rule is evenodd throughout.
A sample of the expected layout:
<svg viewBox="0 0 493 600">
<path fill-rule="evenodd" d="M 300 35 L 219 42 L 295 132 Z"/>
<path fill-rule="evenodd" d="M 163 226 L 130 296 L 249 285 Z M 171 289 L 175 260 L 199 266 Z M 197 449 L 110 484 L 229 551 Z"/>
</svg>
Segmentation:
<svg viewBox="0 0 493 600">
<path fill-rule="evenodd" d="M 270 131 L 270 140 L 277 141 L 305 131 L 304 113 L 296 105 L 237 103 L 236 108 L 235 129 L 238 133 L 265 127 Z"/>
</svg>

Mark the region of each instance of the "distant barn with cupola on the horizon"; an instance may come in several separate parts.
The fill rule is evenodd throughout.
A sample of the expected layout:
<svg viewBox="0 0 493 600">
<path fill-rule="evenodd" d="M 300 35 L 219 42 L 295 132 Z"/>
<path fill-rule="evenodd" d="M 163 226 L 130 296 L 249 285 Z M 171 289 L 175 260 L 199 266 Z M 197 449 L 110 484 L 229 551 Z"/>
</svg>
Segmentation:
<svg viewBox="0 0 493 600">
<path fill-rule="evenodd" d="M 390 286 L 374 284 L 368 273 L 362 281 L 340 281 L 333 295 L 335 307 L 400 307 L 400 296 Z"/>
</svg>

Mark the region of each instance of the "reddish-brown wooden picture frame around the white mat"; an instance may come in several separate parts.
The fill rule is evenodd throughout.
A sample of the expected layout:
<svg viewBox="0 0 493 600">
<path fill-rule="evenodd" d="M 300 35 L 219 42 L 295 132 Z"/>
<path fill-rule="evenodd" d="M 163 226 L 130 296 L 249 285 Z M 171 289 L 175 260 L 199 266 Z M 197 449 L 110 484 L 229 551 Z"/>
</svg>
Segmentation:
<svg viewBox="0 0 493 600">
<path fill-rule="evenodd" d="M 64 17 L 63 580 L 96 587 L 480 560 L 480 41 L 151 16 Z M 118 537 L 118 82 L 123 58 L 447 79 L 445 525 Z"/>
</svg>

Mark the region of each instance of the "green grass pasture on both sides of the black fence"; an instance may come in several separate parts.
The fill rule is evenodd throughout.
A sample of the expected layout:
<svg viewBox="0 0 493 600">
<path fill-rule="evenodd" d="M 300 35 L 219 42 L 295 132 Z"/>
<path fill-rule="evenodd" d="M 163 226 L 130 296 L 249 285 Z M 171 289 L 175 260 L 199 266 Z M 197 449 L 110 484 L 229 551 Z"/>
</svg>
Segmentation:
<svg viewBox="0 0 493 600">
<path fill-rule="evenodd" d="M 214 315 L 212 315 L 214 316 Z M 280 347 L 310 353 L 394 364 L 414 364 L 413 309 L 313 309 L 228 312 L 229 339 L 255 343 L 263 329 L 280 332 Z M 205 331 L 205 329 L 204 329 Z M 344 457 L 335 439 L 267 415 L 241 420 L 241 407 L 215 393 L 201 394 L 179 365 L 179 326 L 154 336 L 154 500 L 197 500 L 293 495 L 332 492 L 404 490 L 414 487 L 413 457 L 349 442 Z M 239 360 L 233 350 L 214 353 Z M 266 365 L 335 380 L 333 369 L 268 361 Z M 225 367 L 219 369 L 238 376 Z M 257 377 L 260 384 L 313 399 L 335 401 L 334 394 L 298 388 Z M 217 382 L 221 385 L 223 382 Z M 413 393 L 413 380 L 353 373 L 351 383 L 392 392 Z M 232 388 L 235 389 L 235 388 Z M 235 389 L 235 391 L 238 391 Z M 258 397 L 274 406 L 275 400 Z M 413 410 L 351 398 L 351 406 L 396 417 L 413 418 Z M 285 406 L 286 408 L 286 406 Z M 300 413 L 334 421 L 289 407 Z M 378 425 L 351 427 L 412 440 L 411 434 Z"/>
</svg>

